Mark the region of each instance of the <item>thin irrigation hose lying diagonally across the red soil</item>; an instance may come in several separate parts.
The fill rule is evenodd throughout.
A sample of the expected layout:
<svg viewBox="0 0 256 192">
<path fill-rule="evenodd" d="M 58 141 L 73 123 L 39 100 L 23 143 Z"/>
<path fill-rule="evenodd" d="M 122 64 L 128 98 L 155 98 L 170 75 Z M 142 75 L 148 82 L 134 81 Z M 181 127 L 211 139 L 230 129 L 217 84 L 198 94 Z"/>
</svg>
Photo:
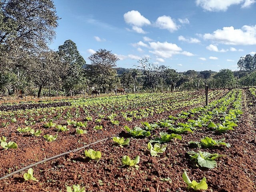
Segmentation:
<svg viewBox="0 0 256 192">
<path fill-rule="evenodd" d="M 87 144 L 87 145 L 85 145 L 85 146 L 82 146 L 82 147 L 80 147 L 80 148 L 77 148 L 77 149 L 74 149 L 74 150 L 70 150 L 70 151 L 68 151 L 68 152 L 64 152 L 64 153 L 62 153 L 62 154 L 59 154 L 59 155 L 56 155 L 56 156 L 53 156 L 53 157 L 44 159 L 44 160 L 42 160 L 42 161 L 36 162 L 36 163 L 34 163 L 34 164 L 32 164 L 32 165 L 26 166 L 26 167 L 24 167 L 24 168 L 21 168 L 21 169 L 19 169 L 19 170 L 14 171 L 14 172 L 12 172 L 12 173 L 6 175 L 6 176 L 3 176 L 3 177 L 0 178 L 0 180 L 5 179 L 5 178 L 8 178 L 8 177 L 10 177 L 10 176 L 12 176 L 12 175 L 14 175 L 14 174 L 17 174 L 17 173 L 19 173 L 19 172 L 22 172 L 22 171 L 24 171 L 24 170 L 26 170 L 26 169 L 29 169 L 29 168 L 31 168 L 31 167 L 34 167 L 34 166 L 39 165 L 39 164 L 41 164 L 41 163 L 44 163 L 44 162 L 46 162 L 46 161 L 50 161 L 50 160 L 56 159 L 56 158 L 58 158 L 58 157 L 67 155 L 67 154 L 69 154 L 69 153 L 71 153 L 71 152 L 77 152 L 77 151 L 79 151 L 79 150 L 81 150 L 81 149 L 83 149 L 83 148 L 86 148 L 86 147 L 90 146 L 90 145 L 97 144 L 97 143 L 99 143 L 99 142 L 108 140 L 108 139 L 110 139 L 110 138 L 113 138 L 113 137 L 104 138 L 104 139 L 98 140 L 98 141 L 96 141 L 96 142 L 93 142 L 93 143 Z"/>
</svg>

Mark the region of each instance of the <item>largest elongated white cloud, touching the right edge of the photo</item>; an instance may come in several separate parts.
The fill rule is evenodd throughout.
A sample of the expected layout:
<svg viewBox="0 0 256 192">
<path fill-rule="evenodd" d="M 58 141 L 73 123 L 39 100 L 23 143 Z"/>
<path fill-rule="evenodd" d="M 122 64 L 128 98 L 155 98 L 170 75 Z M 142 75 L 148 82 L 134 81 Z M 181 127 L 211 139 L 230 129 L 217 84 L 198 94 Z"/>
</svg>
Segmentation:
<svg viewBox="0 0 256 192">
<path fill-rule="evenodd" d="M 204 34 L 205 40 L 212 40 L 214 42 L 227 45 L 255 45 L 256 44 L 256 25 L 242 26 L 241 29 L 234 29 L 234 27 L 224 27 L 222 30 L 218 29 L 212 34 Z"/>
</svg>

